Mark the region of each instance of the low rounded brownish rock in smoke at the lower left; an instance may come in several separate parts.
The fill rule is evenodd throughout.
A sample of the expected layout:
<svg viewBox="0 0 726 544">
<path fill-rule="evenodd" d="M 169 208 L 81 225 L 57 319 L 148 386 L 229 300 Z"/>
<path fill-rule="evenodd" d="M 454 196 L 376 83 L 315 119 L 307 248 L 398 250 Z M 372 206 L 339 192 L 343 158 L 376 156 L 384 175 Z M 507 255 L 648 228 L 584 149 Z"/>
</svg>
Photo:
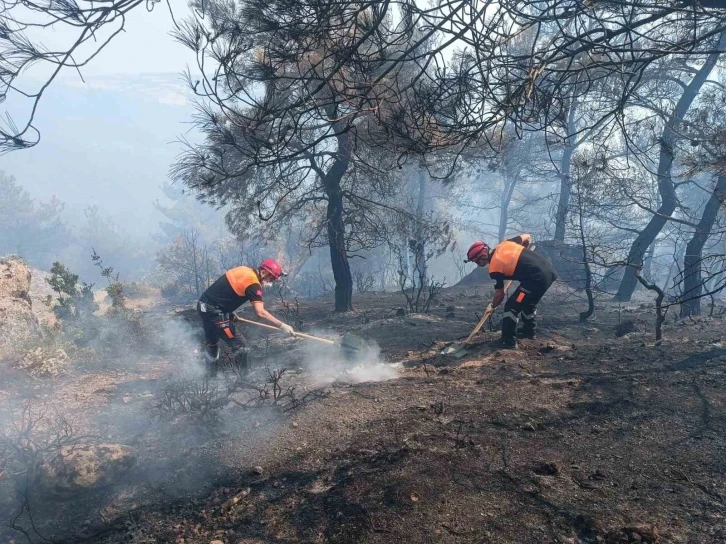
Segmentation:
<svg viewBox="0 0 726 544">
<path fill-rule="evenodd" d="M 111 485 L 136 466 L 135 451 L 120 444 L 63 446 L 38 467 L 38 483 L 69 495 Z"/>
</svg>

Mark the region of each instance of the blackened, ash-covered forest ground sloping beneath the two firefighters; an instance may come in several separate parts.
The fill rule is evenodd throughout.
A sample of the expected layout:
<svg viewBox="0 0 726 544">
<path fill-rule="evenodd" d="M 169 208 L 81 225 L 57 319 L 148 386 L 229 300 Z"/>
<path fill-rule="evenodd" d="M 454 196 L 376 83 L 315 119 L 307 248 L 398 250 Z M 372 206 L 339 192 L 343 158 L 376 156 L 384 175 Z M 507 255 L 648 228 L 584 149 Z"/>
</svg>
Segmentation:
<svg viewBox="0 0 726 544">
<path fill-rule="evenodd" d="M 723 320 L 669 318 L 655 346 L 648 299 L 602 303 L 580 325 L 581 303 L 563 293 L 543 303 L 539 339 L 497 351 L 487 332 L 462 359 L 439 352 L 476 322 L 483 303 L 472 290 L 447 290 L 430 315 L 404 317 L 396 295 L 361 296 L 344 317 L 305 302 L 306 329 L 375 340 L 399 377 L 313 387 L 299 344 L 253 333 L 298 395 L 320 394 L 232 404 L 216 423 L 142 417 L 175 370 L 163 356 L 37 385 L 79 414 L 95 406 L 94 425 L 113 414 L 115 437 L 140 452 L 123 485 L 34 498 L 38 532 L 93 542 L 724 541 Z M 638 330 L 618 337 L 628 319 Z"/>
</svg>

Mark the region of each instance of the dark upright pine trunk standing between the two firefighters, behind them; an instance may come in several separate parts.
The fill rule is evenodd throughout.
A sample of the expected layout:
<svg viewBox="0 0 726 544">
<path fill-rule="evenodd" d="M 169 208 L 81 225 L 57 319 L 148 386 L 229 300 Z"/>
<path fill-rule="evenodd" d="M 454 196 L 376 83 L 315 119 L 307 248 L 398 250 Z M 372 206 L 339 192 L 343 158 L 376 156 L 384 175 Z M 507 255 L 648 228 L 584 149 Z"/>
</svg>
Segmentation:
<svg viewBox="0 0 726 544">
<path fill-rule="evenodd" d="M 350 312 L 353 310 L 353 276 L 348 263 L 341 181 L 350 163 L 351 142 L 348 133 L 339 134 L 337 140 L 338 153 L 335 162 L 323 178 L 323 186 L 328 198 L 325 221 L 330 247 L 330 264 L 333 267 L 333 278 L 335 279 L 335 311 Z"/>
</svg>

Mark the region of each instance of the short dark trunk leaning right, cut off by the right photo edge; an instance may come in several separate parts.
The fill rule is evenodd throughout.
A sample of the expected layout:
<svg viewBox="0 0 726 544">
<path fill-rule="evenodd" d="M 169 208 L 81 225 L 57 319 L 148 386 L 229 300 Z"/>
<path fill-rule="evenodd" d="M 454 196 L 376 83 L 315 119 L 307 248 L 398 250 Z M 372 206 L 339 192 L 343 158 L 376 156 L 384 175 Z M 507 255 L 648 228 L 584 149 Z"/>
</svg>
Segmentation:
<svg viewBox="0 0 726 544">
<path fill-rule="evenodd" d="M 726 176 L 719 176 L 716 187 L 714 187 L 713 193 L 703 209 L 696 231 L 686 245 L 686 254 L 683 258 L 681 317 L 701 315 L 701 296 L 703 295 L 701 259 L 703 258 L 703 246 L 711 235 L 711 230 L 716 222 L 724 198 L 726 198 Z"/>
</svg>

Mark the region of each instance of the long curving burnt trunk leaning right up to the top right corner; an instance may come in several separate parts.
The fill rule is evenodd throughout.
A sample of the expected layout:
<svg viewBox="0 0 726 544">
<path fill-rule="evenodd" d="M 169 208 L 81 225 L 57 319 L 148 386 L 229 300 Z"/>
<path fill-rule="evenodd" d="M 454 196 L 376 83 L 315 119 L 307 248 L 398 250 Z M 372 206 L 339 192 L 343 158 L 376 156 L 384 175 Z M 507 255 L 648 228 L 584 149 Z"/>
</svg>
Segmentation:
<svg viewBox="0 0 726 544">
<path fill-rule="evenodd" d="M 721 34 L 718 49 L 723 49 L 724 45 L 726 45 L 726 33 Z M 658 194 L 661 199 L 660 207 L 630 247 L 628 266 L 625 267 L 625 274 L 620 283 L 618 293 L 615 295 L 615 300 L 628 301 L 633 296 L 635 286 L 638 284 L 636 274 L 643 266 L 645 252 L 655 241 L 678 205 L 676 188 L 673 185 L 673 179 L 671 177 L 673 146 L 678 138 L 678 125 L 683 121 L 686 113 L 688 113 L 688 109 L 691 107 L 696 96 L 698 96 L 711 70 L 716 65 L 718 57 L 719 53 L 712 53 L 708 56 L 706 62 L 683 91 L 673 113 L 665 122 L 660 141 L 660 158 L 658 161 Z"/>
</svg>

